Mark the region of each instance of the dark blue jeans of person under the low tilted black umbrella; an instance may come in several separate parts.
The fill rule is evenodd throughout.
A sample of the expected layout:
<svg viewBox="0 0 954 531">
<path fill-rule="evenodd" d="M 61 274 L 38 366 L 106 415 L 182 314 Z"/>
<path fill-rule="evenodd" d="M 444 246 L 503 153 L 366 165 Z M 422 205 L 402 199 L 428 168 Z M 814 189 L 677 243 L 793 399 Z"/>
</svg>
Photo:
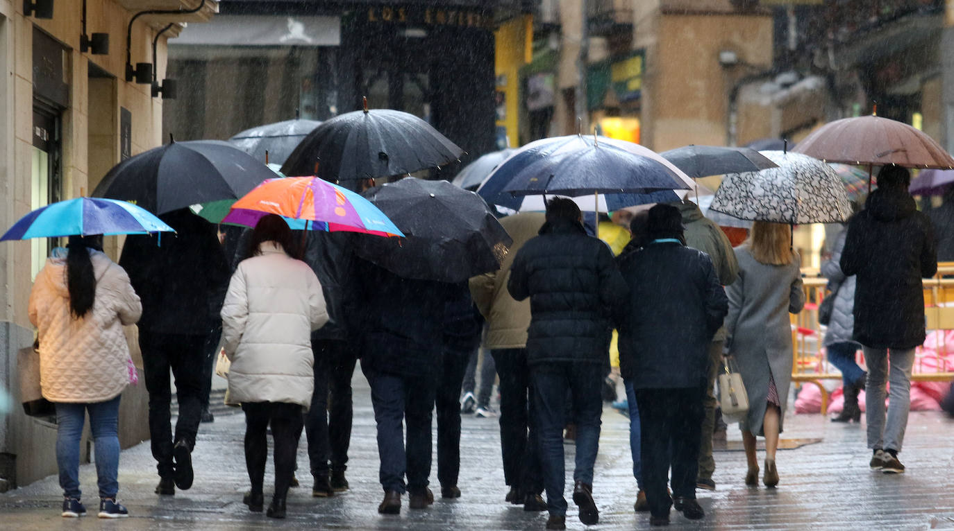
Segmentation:
<svg viewBox="0 0 954 531">
<path fill-rule="evenodd" d="M 365 369 L 363 364 L 362 369 Z M 364 376 L 371 384 L 371 404 L 378 424 L 381 485 L 385 492 L 421 493 L 430 476 L 435 378 L 389 375 L 373 370 L 364 370 Z M 406 452 L 402 421 L 407 426 Z"/>
</svg>

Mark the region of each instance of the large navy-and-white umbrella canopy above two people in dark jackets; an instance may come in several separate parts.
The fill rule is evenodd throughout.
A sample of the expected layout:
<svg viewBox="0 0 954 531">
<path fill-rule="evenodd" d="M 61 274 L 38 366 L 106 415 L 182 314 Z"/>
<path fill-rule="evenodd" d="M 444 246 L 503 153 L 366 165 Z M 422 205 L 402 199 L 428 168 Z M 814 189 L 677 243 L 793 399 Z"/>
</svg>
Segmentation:
<svg viewBox="0 0 954 531">
<path fill-rule="evenodd" d="M 532 178 L 537 180 L 530 190 L 524 185 Z M 548 182 L 552 186 L 548 187 Z M 679 196 L 674 190 L 688 190 L 693 185 L 693 179 L 672 162 L 643 146 L 572 134 L 543 138 L 520 148 L 487 176 L 477 193 L 488 202 L 519 210 L 523 199 L 510 193 L 517 187 L 524 187 L 525 194 L 543 194 L 544 190 L 564 195 L 605 192 L 607 206 L 616 210 L 675 201 Z M 653 194 L 653 199 L 647 194 Z M 659 200 L 660 194 L 668 197 L 666 201 Z"/>
</svg>

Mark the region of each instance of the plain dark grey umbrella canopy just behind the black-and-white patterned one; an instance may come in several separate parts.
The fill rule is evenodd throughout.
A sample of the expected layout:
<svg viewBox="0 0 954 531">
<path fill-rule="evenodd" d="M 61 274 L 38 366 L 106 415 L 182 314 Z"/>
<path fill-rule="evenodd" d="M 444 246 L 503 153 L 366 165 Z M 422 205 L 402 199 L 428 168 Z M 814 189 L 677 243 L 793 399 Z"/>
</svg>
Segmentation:
<svg viewBox="0 0 954 531">
<path fill-rule="evenodd" d="M 690 145 L 659 154 L 693 178 L 758 172 L 778 167 L 775 162 L 749 148 Z"/>
</svg>

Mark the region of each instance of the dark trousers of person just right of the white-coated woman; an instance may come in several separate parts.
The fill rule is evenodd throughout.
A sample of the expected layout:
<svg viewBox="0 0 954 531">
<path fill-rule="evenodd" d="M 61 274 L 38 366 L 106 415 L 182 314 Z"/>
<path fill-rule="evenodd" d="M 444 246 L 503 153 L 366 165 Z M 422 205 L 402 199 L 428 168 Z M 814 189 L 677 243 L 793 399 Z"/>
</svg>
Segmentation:
<svg viewBox="0 0 954 531">
<path fill-rule="evenodd" d="M 332 470 L 344 470 L 351 444 L 351 377 L 357 359 L 347 341 L 312 340 L 315 355 L 315 391 L 311 408 L 305 415 L 304 430 L 308 439 L 308 460 L 313 475 L 327 474 L 328 460 Z M 330 392 L 330 398 L 329 398 Z"/>
</svg>

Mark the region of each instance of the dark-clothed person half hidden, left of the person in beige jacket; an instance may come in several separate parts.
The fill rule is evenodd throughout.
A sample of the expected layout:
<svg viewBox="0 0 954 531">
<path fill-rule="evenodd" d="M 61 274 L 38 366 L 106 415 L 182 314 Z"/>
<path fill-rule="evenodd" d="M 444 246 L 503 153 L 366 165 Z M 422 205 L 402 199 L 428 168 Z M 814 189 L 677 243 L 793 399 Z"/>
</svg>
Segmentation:
<svg viewBox="0 0 954 531">
<path fill-rule="evenodd" d="M 442 498 L 460 498 L 461 382 L 468 355 L 480 345 L 484 319 L 474 308 L 466 281 L 450 286 L 444 308 L 442 373 L 435 393 L 437 479 Z"/>
</svg>

